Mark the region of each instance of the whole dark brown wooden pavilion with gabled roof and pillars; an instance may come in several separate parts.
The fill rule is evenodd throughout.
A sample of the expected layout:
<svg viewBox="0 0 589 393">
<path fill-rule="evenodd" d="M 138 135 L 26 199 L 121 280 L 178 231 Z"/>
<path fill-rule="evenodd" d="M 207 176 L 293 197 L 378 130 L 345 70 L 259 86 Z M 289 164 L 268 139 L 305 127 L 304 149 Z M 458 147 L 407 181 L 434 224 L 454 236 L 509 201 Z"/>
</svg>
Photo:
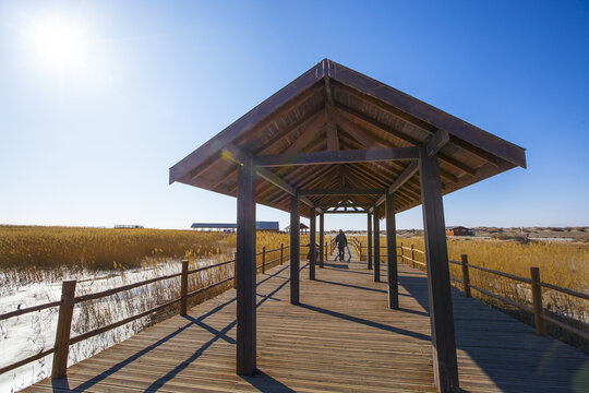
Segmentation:
<svg viewBox="0 0 589 393">
<path fill-rule="evenodd" d="M 255 204 L 316 216 L 368 217 L 380 281 L 386 218 L 388 306 L 398 308 L 395 213 L 423 207 L 434 380 L 459 391 L 442 195 L 514 167 L 525 150 L 328 59 L 311 68 L 170 168 L 175 181 L 237 198 L 237 372 L 256 369 Z M 299 303 L 299 231 L 290 233 L 290 302 Z M 313 246 L 312 246 L 313 247 Z M 310 252 L 310 278 L 315 253 Z M 320 252 L 323 255 L 323 251 Z"/>
</svg>

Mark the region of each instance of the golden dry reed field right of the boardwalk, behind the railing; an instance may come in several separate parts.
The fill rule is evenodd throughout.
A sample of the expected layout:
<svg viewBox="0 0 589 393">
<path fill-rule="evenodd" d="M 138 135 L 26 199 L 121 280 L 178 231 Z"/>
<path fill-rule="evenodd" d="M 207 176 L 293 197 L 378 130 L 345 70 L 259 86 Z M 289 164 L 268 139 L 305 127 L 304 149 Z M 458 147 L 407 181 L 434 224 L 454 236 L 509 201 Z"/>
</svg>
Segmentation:
<svg viewBox="0 0 589 393">
<path fill-rule="evenodd" d="M 358 236 L 357 239 L 366 245 L 366 238 Z M 540 269 L 540 277 L 544 283 L 569 288 L 579 293 L 589 291 L 589 245 L 584 242 L 550 242 L 472 238 L 448 238 L 448 258 L 460 261 L 461 254 L 468 255 L 468 262 L 473 265 L 514 274 L 521 277 L 530 277 L 530 267 Z M 424 250 L 422 237 L 398 237 L 397 246 L 414 247 Z M 381 237 L 381 247 L 386 246 L 386 238 Z M 363 257 L 365 260 L 365 249 Z M 406 257 L 411 257 L 409 250 L 404 250 Z M 386 255 L 386 248 L 381 249 L 381 263 Z M 414 253 L 416 260 L 425 262 L 425 255 Z M 404 261 L 408 262 L 408 261 Z M 424 270 L 423 266 L 419 269 Z M 461 278 L 461 266 L 449 264 L 450 275 Z M 490 290 L 496 295 L 506 297 L 517 302 L 531 306 L 531 287 L 529 284 L 513 281 L 474 269 L 469 270 L 470 283 L 480 288 Z M 462 284 L 453 282 L 453 285 L 464 290 Z M 524 313 L 506 303 L 472 290 L 472 296 L 482 301 L 507 311 L 515 317 L 533 324 L 533 317 Z M 589 301 L 568 296 L 556 290 L 544 289 L 542 293 L 543 306 L 558 319 L 566 321 L 573 326 L 589 331 Z M 570 344 L 579 345 L 589 350 L 588 343 L 581 343 L 575 336 L 549 325 L 549 332 Z"/>
</svg>

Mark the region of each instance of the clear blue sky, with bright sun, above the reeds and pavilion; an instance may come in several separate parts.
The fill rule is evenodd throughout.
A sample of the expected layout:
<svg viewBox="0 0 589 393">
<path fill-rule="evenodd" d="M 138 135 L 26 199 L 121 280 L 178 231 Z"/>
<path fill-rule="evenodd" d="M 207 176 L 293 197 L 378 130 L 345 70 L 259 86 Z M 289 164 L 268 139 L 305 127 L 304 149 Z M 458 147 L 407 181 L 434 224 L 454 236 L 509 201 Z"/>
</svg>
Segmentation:
<svg viewBox="0 0 589 393">
<path fill-rule="evenodd" d="M 447 225 L 589 225 L 580 1 L 0 0 L 0 223 L 235 222 L 168 168 L 323 58 L 527 148 L 528 169 L 445 196 Z"/>
</svg>

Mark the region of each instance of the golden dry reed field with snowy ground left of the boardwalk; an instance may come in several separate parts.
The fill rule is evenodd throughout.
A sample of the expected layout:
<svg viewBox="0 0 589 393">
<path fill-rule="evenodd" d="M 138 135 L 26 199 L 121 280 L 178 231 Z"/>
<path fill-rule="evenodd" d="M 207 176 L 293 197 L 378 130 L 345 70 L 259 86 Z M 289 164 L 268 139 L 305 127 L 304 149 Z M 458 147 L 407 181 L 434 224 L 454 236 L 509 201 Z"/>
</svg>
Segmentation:
<svg viewBox="0 0 589 393">
<path fill-rule="evenodd" d="M 306 240 L 309 242 L 309 240 Z M 257 233 L 257 251 L 265 247 L 267 269 L 279 264 L 280 245 L 289 258 L 289 237 Z M 301 243 L 305 245 L 301 236 Z M 277 251 L 272 251 L 276 250 Z M 61 281 L 76 279 L 76 296 L 177 274 L 181 260 L 189 270 L 231 261 L 236 235 L 193 230 L 103 229 L 72 227 L 0 227 L 0 314 L 60 299 Z M 301 252 L 304 252 L 301 249 Z M 257 257 L 259 265 L 264 257 Z M 262 269 L 260 267 L 259 271 Z M 233 263 L 189 275 L 189 306 L 202 302 L 232 286 Z M 75 306 L 72 336 L 109 325 L 173 300 L 180 296 L 180 277 L 154 282 Z M 69 364 L 87 358 L 170 314 L 179 306 L 134 320 L 72 345 Z M 0 321 L 0 367 L 53 345 L 57 308 Z M 51 356 L 0 376 L 0 391 L 19 389 L 47 377 Z"/>
</svg>

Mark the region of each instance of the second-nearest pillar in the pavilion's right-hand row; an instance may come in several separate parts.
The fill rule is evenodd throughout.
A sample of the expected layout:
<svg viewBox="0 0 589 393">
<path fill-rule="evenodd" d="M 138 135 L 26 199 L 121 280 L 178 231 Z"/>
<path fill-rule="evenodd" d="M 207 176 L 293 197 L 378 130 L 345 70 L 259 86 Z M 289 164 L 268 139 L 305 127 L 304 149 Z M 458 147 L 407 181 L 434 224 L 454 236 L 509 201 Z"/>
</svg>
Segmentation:
<svg viewBox="0 0 589 393">
<path fill-rule="evenodd" d="M 399 308 L 397 277 L 397 228 L 395 224 L 395 195 L 386 193 L 386 266 L 388 284 L 388 308 Z"/>
</svg>

